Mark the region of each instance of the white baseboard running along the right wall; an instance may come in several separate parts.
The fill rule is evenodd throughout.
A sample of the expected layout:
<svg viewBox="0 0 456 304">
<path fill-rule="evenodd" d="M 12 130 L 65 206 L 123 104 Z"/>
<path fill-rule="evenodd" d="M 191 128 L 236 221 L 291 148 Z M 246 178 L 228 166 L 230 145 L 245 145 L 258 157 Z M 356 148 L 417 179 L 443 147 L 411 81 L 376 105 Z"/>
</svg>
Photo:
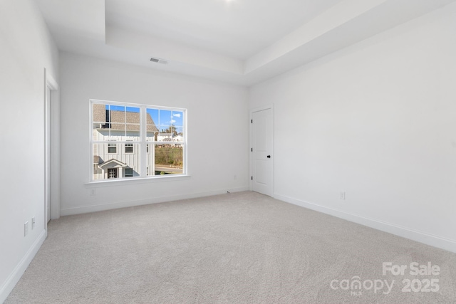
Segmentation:
<svg viewBox="0 0 456 304">
<path fill-rule="evenodd" d="M 445 239 L 441 236 L 435 236 L 432 234 L 427 234 L 423 231 L 418 231 L 415 229 L 406 228 L 403 226 L 398 226 L 395 224 L 390 224 L 385 221 L 378 221 L 376 219 L 370 219 L 366 216 L 359 216 L 356 214 L 350 214 L 347 212 L 339 211 L 336 209 L 331 209 L 325 206 L 320 206 L 318 204 L 309 203 L 308 201 L 301 201 L 299 199 L 292 199 L 291 197 L 274 194 L 274 199 L 279 199 L 280 201 L 285 201 L 289 204 L 294 204 L 301 206 L 307 209 L 315 210 L 324 214 L 329 214 L 331 216 L 336 216 L 340 219 L 345 219 L 347 221 L 352 221 L 356 224 L 361 224 L 363 226 L 368 226 L 373 229 L 380 231 L 388 232 L 389 234 L 394 234 L 396 236 L 402 236 L 405 239 L 410 239 L 413 241 L 418 241 L 420 243 L 425 243 L 437 248 L 442 248 L 447 251 L 456 253 L 456 241 L 452 239 Z"/>
</svg>

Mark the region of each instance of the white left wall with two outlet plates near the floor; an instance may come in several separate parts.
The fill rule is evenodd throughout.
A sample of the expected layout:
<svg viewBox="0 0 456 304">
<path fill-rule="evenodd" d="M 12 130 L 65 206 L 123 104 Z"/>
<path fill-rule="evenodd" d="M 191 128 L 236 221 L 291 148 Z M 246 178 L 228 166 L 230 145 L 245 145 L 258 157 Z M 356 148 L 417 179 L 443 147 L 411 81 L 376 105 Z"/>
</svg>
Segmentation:
<svg viewBox="0 0 456 304">
<path fill-rule="evenodd" d="M 58 51 L 34 1 L 0 1 L 0 303 L 46 237 L 44 68 L 58 80 Z"/>
</svg>

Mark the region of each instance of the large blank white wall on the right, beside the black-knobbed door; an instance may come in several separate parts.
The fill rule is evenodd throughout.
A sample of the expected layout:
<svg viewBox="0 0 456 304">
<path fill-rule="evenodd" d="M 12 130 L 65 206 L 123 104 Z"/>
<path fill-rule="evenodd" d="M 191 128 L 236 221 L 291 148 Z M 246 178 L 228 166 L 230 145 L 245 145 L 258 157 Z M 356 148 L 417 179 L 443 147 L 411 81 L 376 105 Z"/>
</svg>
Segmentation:
<svg viewBox="0 0 456 304">
<path fill-rule="evenodd" d="M 455 28 L 450 4 L 252 87 L 275 196 L 456 251 Z"/>
</svg>

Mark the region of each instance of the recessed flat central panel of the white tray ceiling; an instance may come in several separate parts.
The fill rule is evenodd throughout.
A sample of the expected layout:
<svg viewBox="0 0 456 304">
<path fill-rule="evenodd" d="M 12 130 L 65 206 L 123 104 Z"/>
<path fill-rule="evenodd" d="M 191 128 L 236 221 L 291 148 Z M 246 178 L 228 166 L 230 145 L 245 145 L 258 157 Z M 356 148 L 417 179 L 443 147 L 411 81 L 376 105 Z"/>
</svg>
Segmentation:
<svg viewBox="0 0 456 304">
<path fill-rule="evenodd" d="M 108 28 L 246 60 L 340 1 L 109 0 L 105 12 Z"/>
</svg>

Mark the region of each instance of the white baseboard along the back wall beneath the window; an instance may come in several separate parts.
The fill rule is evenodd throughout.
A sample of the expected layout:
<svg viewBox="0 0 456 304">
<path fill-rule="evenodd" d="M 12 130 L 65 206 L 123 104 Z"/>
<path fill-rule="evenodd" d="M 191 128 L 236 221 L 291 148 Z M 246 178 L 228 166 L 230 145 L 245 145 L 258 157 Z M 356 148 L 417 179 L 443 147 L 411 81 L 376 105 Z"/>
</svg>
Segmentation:
<svg viewBox="0 0 456 304">
<path fill-rule="evenodd" d="M 67 215 L 84 214 L 84 213 L 105 211 L 105 210 L 118 209 L 118 208 L 164 203 L 166 201 L 179 201 L 181 199 L 195 199 L 197 197 L 224 194 L 224 193 L 227 193 L 227 191 L 231 192 L 231 193 L 249 191 L 249 187 L 224 189 L 224 190 L 216 190 L 216 191 L 209 191 L 209 192 L 179 194 L 179 195 L 172 195 L 172 196 L 160 196 L 160 197 L 152 197 L 150 199 L 141 199 L 141 200 L 137 200 L 137 201 L 120 201 L 120 202 L 112 203 L 112 204 L 100 204 L 100 205 L 92 205 L 92 206 L 73 207 L 73 208 L 68 208 L 68 209 L 61 209 L 60 214 L 61 214 L 61 216 L 67 216 Z"/>
</svg>

